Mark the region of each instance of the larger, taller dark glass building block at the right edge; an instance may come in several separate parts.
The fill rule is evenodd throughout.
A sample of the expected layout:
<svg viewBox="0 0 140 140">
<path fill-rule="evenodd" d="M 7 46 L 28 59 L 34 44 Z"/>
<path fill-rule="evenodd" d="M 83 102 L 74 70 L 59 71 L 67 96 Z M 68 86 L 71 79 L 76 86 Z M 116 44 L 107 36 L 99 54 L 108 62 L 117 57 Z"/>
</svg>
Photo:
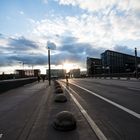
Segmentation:
<svg viewBox="0 0 140 140">
<path fill-rule="evenodd" d="M 106 50 L 101 54 L 101 60 L 104 73 L 112 74 L 135 72 L 135 56 Z M 140 57 L 137 57 L 137 64 L 140 64 Z"/>
</svg>

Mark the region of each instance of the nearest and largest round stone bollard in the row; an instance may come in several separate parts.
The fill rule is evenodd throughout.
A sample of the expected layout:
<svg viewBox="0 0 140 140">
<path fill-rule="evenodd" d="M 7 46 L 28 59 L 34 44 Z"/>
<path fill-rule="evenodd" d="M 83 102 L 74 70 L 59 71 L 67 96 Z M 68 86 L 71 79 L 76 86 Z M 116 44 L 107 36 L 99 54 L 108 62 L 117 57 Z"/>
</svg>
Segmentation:
<svg viewBox="0 0 140 140">
<path fill-rule="evenodd" d="M 58 113 L 54 119 L 53 127 L 59 131 L 70 131 L 76 128 L 76 119 L 69 111 Z"/>
</svg>

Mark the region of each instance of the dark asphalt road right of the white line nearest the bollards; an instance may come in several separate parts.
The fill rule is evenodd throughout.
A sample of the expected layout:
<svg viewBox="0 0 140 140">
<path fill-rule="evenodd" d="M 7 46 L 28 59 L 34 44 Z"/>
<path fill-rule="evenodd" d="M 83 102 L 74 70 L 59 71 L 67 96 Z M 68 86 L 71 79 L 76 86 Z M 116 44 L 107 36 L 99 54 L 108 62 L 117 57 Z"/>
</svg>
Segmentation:
<svg viewBox="0 0 140 140">
<path fill-rule="evenodd" d="M 140 140 L 140 81 L 70 79 L 69 88 L 107 139 Z"/>
</svg>

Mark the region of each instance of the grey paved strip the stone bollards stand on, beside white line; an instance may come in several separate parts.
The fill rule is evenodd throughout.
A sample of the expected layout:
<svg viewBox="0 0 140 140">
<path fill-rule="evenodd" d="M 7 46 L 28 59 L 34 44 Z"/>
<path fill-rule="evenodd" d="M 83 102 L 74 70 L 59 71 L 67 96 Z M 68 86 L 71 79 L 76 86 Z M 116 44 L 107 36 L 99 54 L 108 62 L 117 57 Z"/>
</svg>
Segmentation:
<svg viewBox="0 0 140 140">
<path fill-rule="evenodd" d="M 54 102 L 54 84 L 46 88 L 46 97 L 42 101 L 36 121 L 30 130 L 28 140 L 97 140 L 95 133 L 82 116 L 81 112 L 71 99 L 70 95 L 64 90 L 68 101 L 65 103 Z M 54 117 L 61 111 L 71 111 L 77 120 L 77 129 L 62 132 L 55 130 L 52 126 Z"/>
</svg>

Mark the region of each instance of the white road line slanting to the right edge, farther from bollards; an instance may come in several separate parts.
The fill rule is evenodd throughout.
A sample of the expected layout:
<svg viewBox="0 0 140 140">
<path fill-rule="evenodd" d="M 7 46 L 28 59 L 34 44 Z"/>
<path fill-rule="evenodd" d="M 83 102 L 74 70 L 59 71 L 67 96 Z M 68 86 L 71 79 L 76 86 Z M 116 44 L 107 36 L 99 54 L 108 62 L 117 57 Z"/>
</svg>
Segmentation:
<svg viewBox="0 0 140 140">
<path fill-rule="evenodd" d="M 87 91 L 89 93 L 91 93 L 92 95 L 94 95 L 94 96 L 96 96 L 96 97 L 98 97 L 98 98 L 100 98 L 100 99 L 102 99 L 102 100 L 104 100 L 104 101 L 106 101 L 106 102 L 108 102 L 108 103 L 110 103 L 110 104 L 118 107 L 119 109 L 121 109 L 121 110 L 123 110 L 123 111 L 125 111 L 125 112 L 127 112 L 127 113 L 129 113 L 131 115 L 133 115 L 134 117 L 140 119 L 140 114 L 139 113 L 136 113 L 133 110 L 130 110 L 130 109 L 128 109 L 128 108 L 126 108 L 126 107 L 124 107 L 122 105 L 119 105 L 119 104 L 117 104 L 117 103 L 115 103 L 115 102 L 113 102 L 113 101 L 111 101 L 111 100 L 109 100 L 109 99 L 107 99 L 107 98 L 105 98 L 105 97 L 103 97 L 101 95 L 98 95 L 97 93 L 92 92 L 92 91 L 90 91 L 90 90 L 88 90 L 88 89 L 86 89 L 84 87 L 81 87 L 81 86 L 76 85 L 74 83 L 71 83 L 71 84 L 74 85 L 74 86 L 76 86 L 76 87 L 79 87 L 79 88 L 81 88 L 81 89 L 83 89 L 83 90 L 85 90 L 85 91 Z"/>
</svg>

